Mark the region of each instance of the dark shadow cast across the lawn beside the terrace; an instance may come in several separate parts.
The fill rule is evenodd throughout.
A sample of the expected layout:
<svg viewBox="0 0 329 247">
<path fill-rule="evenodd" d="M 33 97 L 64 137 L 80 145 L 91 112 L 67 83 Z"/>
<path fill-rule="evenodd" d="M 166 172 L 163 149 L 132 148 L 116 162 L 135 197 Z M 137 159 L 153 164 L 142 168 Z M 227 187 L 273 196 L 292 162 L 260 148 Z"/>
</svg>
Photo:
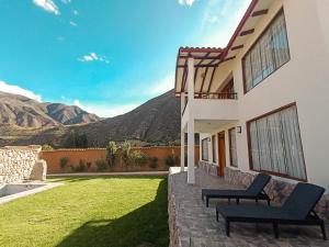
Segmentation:
<svg viewBox="0 0 329 247">
<path fill-rule="evenodd" d="M 163 179 L 154 201 L 120 218 L 86 222 L 57 247 L 167 247 L 167 203 Z"/>
</svg>

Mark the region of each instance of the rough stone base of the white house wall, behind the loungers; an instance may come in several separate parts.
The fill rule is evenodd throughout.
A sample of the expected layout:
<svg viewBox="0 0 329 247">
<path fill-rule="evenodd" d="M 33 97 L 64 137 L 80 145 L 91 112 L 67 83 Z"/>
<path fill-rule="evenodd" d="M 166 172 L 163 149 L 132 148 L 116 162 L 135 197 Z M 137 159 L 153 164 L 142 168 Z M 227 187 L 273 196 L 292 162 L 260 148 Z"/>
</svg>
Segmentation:
<svg viewBox="0 0 329 247">
<path fill-rule="evenodd" d="M 224 179 L 231 184 L 242 186 L 247 188 L 251 183 L 253 178 L 254 176 L 251 173 L 242 172 L 240 170 L 231 169 L 228 167 L 225 168 Z M 291 194 L 294 188 L 294 183 L 272 178 L 264 190 L 273 202 L 282 204 L 285 201 L 285 199 Z M 322 197 L 320 202 L 317 204 L 316 211 L 320 215 L 329 220 L 329 194 L 325 194 Z"/>
</svg>

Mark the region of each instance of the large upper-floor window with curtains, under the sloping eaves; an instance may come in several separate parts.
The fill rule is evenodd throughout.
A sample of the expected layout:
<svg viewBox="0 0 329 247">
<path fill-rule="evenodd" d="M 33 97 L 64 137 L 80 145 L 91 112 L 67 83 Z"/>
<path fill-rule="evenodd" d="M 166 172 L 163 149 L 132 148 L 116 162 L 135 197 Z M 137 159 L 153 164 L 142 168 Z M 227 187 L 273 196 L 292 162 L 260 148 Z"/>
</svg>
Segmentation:
<svg viewBox="0 0 329 247">
<path fill-rule="evenodd" d="M 288 60 L 286 25 L 281 10 L 242 59 L 245 93 Z"/>
</svg>

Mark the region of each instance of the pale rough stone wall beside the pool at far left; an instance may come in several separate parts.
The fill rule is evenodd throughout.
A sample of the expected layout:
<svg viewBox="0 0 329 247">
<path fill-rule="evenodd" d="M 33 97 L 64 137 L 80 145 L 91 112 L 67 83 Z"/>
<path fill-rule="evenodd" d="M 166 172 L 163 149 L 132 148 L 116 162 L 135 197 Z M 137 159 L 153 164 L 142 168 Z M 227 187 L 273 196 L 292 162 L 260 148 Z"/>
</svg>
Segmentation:
<svg viewBox="0 0 329 247">
<path fill-rule="evenodd" d="M 45 164 L 35 167 L 38 160 L 39 146 L 8 146 L 0 148 L 0 183 L 13 183 L 22 180 L 42 180 L 45 173 Z M 41 165 L 38 165 L 41 166 Z"/>
</svg>

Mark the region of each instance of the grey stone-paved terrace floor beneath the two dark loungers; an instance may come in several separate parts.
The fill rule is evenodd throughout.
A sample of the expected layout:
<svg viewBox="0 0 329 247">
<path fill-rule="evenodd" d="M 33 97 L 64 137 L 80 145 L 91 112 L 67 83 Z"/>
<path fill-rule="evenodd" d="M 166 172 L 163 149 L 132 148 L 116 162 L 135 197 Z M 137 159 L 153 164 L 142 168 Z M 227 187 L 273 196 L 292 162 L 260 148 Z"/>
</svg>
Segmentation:
<svg viewBox="0 0 329 247">
<path fill-rule="evenodd" d="M 196 182 L 186 184 L 186 172 L 171 169 L 169 176 L 169 227 L 171 247 L 322 247 L 325 242 L 318 226 L 280 226 L 275 239 L 272 225 L 231 223 L 230 237 L 226 237 L 224 220 L 215 218 L 216 204 L 227 201 L 213 200 L 206 207 L 201 200 L 202 188 L 240 189 L 224 179 L 195 170 Z M 254 203 L 254 202 L 241 202 Z M 327 234 L 328 234 L 328 224 Z"/>
</svg>

